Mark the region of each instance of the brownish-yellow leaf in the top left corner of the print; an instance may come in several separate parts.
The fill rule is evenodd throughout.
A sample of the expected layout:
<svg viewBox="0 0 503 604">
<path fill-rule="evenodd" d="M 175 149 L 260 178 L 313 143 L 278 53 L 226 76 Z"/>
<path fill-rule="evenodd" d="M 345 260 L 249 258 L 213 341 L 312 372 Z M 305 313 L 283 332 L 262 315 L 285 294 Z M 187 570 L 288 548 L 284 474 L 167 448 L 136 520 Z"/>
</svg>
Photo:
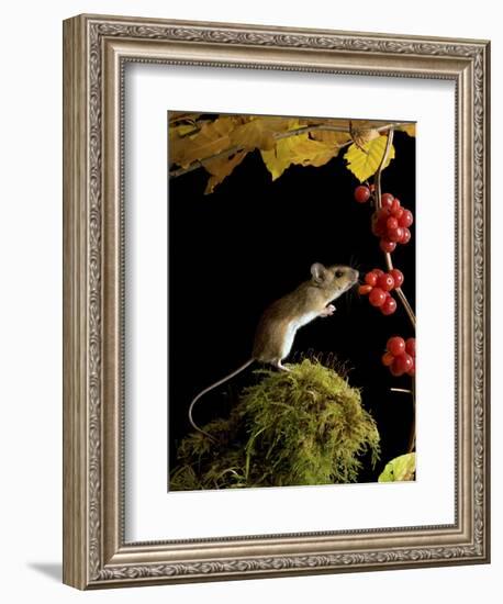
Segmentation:
<svg viewBox="0 0 503 604">
<path fill-rule="evenodd" d="M 175 137 L 169 142 L 170 164 L 187 168 L 193 161 L 205 159 L 232 147 L 230 132 L 235 118 L 224 116 L 205 122 L 193 136 Z"/>
</svg>

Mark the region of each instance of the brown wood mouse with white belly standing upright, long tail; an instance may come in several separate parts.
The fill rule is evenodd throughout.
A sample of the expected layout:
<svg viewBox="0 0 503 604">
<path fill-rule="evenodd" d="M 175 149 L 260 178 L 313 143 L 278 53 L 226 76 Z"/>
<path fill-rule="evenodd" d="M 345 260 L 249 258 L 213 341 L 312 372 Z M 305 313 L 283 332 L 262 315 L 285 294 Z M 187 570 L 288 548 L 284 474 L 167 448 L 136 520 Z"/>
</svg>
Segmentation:
<svg viewBox="0 0 503 604">
<path fill-rule="evenodd" d="M 255 333 L 252 358 L 225 378 L 202 390 L 192 400 L 189 407 L 189 422 L 192 427 L 213 439 L 192 418 L 195 403 L 201 396 L 231 380 L 254 361 L 289 371 L 281 361 L 290 354 L 297 331 L 317 316 L 334 314 L 335 306 L 332 302 L 357 283 L 358 276 L 357 270 L 346 266 L 324 267 L 320 262 L 312 265 L 311 279 L 301 283 L 291 293 L 272 302 L 261 315 Z"/>
</svg>

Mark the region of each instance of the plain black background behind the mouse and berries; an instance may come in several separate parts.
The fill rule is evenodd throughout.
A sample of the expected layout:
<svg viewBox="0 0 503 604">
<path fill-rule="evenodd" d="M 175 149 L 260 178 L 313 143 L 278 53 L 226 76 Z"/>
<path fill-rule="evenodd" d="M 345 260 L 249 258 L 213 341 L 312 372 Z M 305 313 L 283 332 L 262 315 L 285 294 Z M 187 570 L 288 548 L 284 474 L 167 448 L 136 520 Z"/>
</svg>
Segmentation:
<svg viewBox="0 0 503 604">
<path fill-rule="evenodd" d="M 390 191 L 415 216 L 415 139 L 396 132 L 396 156 L 382 172 Z M 320 168 L 291 166 L 271 181 L 259 152 L 248 154 L 215 191 L 204 195 L 209 175 L 198 169 L 169 180 L 169 460 L 176 465 L 180 439 L 191 430 L 192 398 L 226 376 L 252 354 L 264 309 L 310 278 L 310 267 L 345 264 L 365 272 L 384 266 L 370 232 L 371 208 L 353 197 L 357 179 L 344 152 Z M 415 306 L 415 237 L 398 246 L 393 264 L 405 275 L 402 287 Z M 377 421 L 381 462 L 368 463 L 360 481 L 372 481 L 387 461 L 405 452 L 412 421 L 411 378 L 393 378 L 381 365 L 392 335 L 413 334 L 407 316 L 383 316 L 356 290 L 335 302 L 332 317 L 317 318 L 297 334 L 292 354 L 329 353 L 361 389 L 364 406 Z M 290 359 L 287 359 L 288 362 Z M 194 409 L 202 426 L 225 416 L 243 385 L 253 383 L 253 366 L 205 395 Z"/>
</svg>

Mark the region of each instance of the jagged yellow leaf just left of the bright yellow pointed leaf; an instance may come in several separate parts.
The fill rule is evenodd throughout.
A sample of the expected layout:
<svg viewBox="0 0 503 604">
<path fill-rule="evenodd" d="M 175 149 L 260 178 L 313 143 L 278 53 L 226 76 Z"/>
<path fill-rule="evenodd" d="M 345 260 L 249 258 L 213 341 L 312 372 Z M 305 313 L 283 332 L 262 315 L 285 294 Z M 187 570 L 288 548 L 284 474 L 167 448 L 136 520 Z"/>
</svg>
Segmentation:
<svg viewBox="0 0 503 604">
<path fill-rule="evenodd" d="M 301 166 L 323 166 L 338 152 L 338 147 L 313 141 L 308 134 L 280 138 L 271 150 L 261 150 L 264 164 L 272 176 L 279 178 L 292 164 Z"/>
</svg>

